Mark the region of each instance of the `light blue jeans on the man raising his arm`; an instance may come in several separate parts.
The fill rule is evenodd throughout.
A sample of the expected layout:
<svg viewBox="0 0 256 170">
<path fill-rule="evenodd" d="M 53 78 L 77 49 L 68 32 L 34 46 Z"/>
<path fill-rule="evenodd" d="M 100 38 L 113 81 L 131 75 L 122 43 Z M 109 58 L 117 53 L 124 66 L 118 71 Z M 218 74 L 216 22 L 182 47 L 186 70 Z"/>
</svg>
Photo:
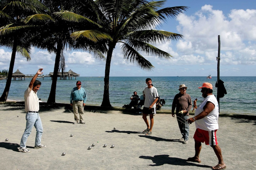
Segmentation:
<svg viewBox="0 0 256 170">
<path fill-rule="evenodd" d="M 39 146 L 41 144 L 41 138 L 42 138 L 42 133 L 43 133 L 43 126 L 42 126 L 42 122 L 41 122 L 39 113 L 27 113 L 26 121 L 27 121 L 26 129 L 22 135 L 22 138 L 20 141 L 20 147 L 26 148 L 26 142 L 27 142 L 29 135 L 31 134 L 33 126 L 37 130 L 35 146 Z"/>
</svg>

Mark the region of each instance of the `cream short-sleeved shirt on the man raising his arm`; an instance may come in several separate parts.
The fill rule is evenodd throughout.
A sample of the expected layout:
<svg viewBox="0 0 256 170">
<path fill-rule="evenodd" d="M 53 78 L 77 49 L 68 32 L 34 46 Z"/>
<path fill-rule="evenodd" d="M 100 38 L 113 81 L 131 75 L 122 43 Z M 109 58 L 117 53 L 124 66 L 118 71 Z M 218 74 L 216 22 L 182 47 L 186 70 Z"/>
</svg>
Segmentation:
<svg viewBox="0 0 256 170">
<path fill-rule="evenodd" d="M 37 93 L 33 90 L 30 90 L 28 87 L 24 93 L 25 100 L 25 111 L 39 111 L 39 101 L 37 97 Z"/>
</svg>

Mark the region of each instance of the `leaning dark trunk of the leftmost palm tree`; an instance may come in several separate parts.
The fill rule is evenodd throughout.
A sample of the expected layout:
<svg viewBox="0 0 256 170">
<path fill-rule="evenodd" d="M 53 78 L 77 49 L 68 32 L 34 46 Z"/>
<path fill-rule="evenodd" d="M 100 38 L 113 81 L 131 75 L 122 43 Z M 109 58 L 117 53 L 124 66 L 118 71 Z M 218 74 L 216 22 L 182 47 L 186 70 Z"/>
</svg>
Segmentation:
<svg viewBox="0 0 256 170">
<path fill-rule="evenodd" d="M 4 88 L 4 92 L 3 92 L 3 94 L 0 98 L 0 101 L 6 101 L 7 100 L 7 96 L 8 96 L 10 86 L 11 86 L 11 81 L 12 81 L 12 72 L 13 72 L 13 67 L 14 67 L 16 51 L 17 51 L 17 40 L 14 40 L 13 46 L 12 46 L 12 56 L 11 56 L 11 62 L 10 62 L 8 76 L 7 76 L 7 81 L 6 81 L 6 85 L 5 85 L 5 88 Z"/>
</svg>

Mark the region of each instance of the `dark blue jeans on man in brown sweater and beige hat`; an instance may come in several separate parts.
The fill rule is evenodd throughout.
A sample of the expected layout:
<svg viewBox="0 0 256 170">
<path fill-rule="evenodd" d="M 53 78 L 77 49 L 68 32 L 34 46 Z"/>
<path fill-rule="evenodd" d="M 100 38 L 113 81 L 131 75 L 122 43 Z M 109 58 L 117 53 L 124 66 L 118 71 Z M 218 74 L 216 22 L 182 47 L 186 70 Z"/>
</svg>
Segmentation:
<svg viewBox="0 0 256 170">
<path fill-rule="evenodd" d="M 186 121 L 189 118 L 189 116 L 183 114 L 176 114 L 176 116 L 182 138 L 184 138 L 184 140 L 189 140 L 189 124 Z"/>
</svg>

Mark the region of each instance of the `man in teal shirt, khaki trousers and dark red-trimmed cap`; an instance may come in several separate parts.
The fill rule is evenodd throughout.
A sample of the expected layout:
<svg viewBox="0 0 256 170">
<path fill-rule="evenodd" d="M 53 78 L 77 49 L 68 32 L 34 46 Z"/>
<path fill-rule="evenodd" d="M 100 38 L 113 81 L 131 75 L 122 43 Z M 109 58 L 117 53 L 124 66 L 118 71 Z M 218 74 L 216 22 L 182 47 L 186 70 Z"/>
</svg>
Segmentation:
<svg viewBox="0 0 256 170">
<path fill-rule="evenodd" d="M 76 87 L 72 89 L 70 94 L 70 106 L 73 106 L 75 122 L 73 124 L 85 124 L 83 121 L 83 108 L 87 99 L 84 88 L 81 87 L 81 82 L 76 82 Z"/>
</svg>

